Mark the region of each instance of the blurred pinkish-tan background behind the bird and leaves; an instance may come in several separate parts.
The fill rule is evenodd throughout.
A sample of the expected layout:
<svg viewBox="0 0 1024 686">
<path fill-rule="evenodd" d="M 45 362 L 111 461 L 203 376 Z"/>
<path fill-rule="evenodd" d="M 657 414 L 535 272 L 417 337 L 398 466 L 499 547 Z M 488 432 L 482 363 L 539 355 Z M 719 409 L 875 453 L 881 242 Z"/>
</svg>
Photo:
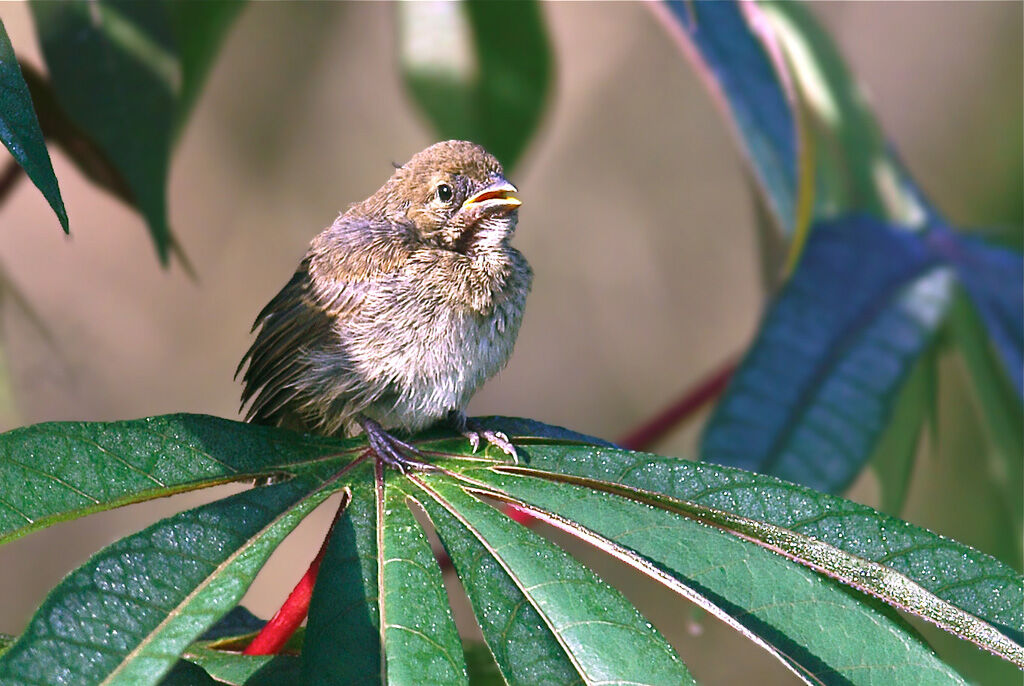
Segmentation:
<svg viewBox="0 0 1024 686">
<path fill-rule="evenodd" d="M 1017 226 L 1019 242 L 1022 5 L 819 3 L 813 11 L 950 220 Z M 552 3 L 543 12 L 555 83 L 512 174 L 524 201 L 515 243 L 537 276 L 512 360 L 470 412 L 614 439 L 749 343 L 764 300 L 754 204 L 725 120 L 647 7 Z M 434 140 L 401 82 L 394 14 L 377 3 L 244 10 L 172 166 L 171 225 L 195 280 L 178 264 L 161 268 L 141 219 L 51 152 L 71 238 L 28 182 L 0 207 L 0 265 L 49 331 L 6 301 L 13 393 L 3 428 L 172 412 L 239 417 L 231 375 L 256 312 L 312 235 L 383 183 L 392 161 Z M 28 6 L 0 4 L 0 19 L 17 54 L 41 68 Z M 955 359 L 943 366 L 942 440 L 923 454 L 903 516 L 1019 568 L 1000 548 L 992 511 L 948 507 L 953 496 L 970 503 L 991 494 L 973 462 L 980 436 L 964 374 Z M 656 452 L 692 456 L 700 419 Z M 0 548 L 8 589 L 0 631 L 20 631 L 46 591 L 101 546 L 221 495 L 134 506 Z M 874 503 L 869 475 L 851 497 Z M 257 580 L 245 601 L 257 614 L 271 614 L 304 570 L 328 507 Z M 660 590 L 600 568 L 702 683 L 793 681 L 714 619 L 659 615 Z"/>
</svg>

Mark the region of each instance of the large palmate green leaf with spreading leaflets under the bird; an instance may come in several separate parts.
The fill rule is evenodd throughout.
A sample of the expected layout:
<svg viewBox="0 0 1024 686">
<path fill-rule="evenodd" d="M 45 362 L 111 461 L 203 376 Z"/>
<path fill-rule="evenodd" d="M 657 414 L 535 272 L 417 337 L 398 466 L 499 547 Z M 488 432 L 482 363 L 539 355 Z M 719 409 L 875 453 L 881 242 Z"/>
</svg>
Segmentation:
<svg viewBox="0 0 1024 686">
<path fill-rule="evenodd" d="M 492 462 L 494 451 L 473 456 L 464 438 L 432 431 L 414 440 L 439 471 L 402 476 L 375 471 L 361 439 L 190 416 L 50 424 L 42 425 L 48 434 L 29 427 L 0 436 L 0 446 L 49 469 L 57 455 L 73 471 L 72 444 L 83 457 L 106 455 L 108 463 L 109 454 L 129 456 L 146 473 L 165 457 L 180 470 L 190 456 L 200 478 L 242 470 L 245 478 L 294 475 L 97 554 L 0 656 L 0 683 L 49 684 L 60 670 L 83 675 L 81 683 L 155 683 L 182 653 L 228 683 L 379 683 L 385 674 L 415 681 L 434 670 L 444 681 L 453 674 L 464 681 L 446 597 L 410 509 L 417 503 L 455 562 L 508 683 L 689 682 L 672 649 L 617 592 L 481 496 L 531 503 L 535 513 L 699 602 L 805 680 L 863 683 L 883 661 L 897 673 L 916 664 L 919 674 L 956 680 L 891 608 L 858 591 L 1024 666 L 1024 580 L 967 546 L 769 476 L 590 445 L 528 420 L 486 423 L 513 436 L 527 466 Z M 164 429 L 157 438 L 154 425 Z M 117 443 L 122 433 L 132 439 Z M 307 632 L 289 648 L 301 643 L 301 657 L 264 663 L 225 652 L 241 648 L 245 636 L 194 643 L 238 602 L 287 531 L 339 489 L 347 508 L 331 532 Z"/>
</svg>

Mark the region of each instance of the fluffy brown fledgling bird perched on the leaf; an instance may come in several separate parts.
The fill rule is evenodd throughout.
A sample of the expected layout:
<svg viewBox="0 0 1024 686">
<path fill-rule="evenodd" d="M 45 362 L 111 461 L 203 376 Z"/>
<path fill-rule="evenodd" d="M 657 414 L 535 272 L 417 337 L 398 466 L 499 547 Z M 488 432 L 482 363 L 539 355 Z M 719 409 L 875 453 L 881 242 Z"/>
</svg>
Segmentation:
<svg viewBox="0 0 1024 686">
<path fill-rule="evenodd" d="M 435 143 L 312 240 L 253 324 L 242 358 L 247 419 L 331 435 L 359 428 L 386 463 L 425 469 L 387 429 L 446 420 L 516 459 L 467 419 L 519 333 L 532 271 L 509 245 L 520 201 L 501 164 L 463 140 Z"/>
</svg>

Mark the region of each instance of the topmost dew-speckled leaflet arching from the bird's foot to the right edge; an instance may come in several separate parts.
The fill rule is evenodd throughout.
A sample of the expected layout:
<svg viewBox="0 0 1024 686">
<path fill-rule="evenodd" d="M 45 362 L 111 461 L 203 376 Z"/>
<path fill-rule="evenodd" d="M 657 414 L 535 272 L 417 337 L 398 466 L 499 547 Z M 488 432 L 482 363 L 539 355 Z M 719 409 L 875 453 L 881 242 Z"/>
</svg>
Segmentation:
<svg viewBox="0 0 1024 686">
<path fill-rule="evenodd" d="M 544 444 L 526 446 L 520 453 L 527 456 L 530 468 L 549 472 L 548 478 L 570 475 L 669 497 L 674 502 L 665 506 L 669 509 L 692 503 L 749 520 L 742 526 L 762 522 L 883 565 L 991 625 L 1018 646 L 1024 645 L 1024 578 L 1020 574 L 991 556 L 866 506 L 770 476 L 673 458 Z M 866 569 L 871 574 L 880 572 L 871 565 Z M 900 607 L 919 615 L 928 610 Z"/>
</svg>

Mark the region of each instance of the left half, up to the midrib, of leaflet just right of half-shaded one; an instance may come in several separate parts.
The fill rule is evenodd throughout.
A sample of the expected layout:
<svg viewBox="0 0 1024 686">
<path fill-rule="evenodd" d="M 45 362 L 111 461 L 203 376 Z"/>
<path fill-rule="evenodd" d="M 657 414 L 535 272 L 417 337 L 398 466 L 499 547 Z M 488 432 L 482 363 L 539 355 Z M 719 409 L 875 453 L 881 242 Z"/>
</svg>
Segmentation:
<svg viewBox="0 0 1024 686">
<path fill-rule="evenodd" d="M 582 683 L 551 626 L 487 547 L 433 499 L 424 498 L 420 503 L 459 574 L 503 683 Z"/>
</svg>

